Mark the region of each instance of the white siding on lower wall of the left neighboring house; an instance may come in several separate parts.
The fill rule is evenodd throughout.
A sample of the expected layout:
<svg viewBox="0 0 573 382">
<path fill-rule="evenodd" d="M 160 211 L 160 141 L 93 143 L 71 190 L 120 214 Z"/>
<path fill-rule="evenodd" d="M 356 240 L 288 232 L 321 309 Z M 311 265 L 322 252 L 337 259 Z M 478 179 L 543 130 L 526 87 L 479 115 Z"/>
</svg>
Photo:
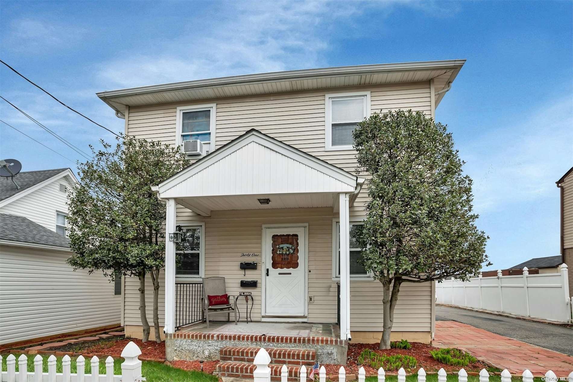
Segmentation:
<svg viewBox="0 0 573 382">
<path fill-rule="evenodd" d="M 2 245 L 0 344 L 119 325 L 121 296 L 102 274 L 73 271 L 68 251 Z"/>
</svg>

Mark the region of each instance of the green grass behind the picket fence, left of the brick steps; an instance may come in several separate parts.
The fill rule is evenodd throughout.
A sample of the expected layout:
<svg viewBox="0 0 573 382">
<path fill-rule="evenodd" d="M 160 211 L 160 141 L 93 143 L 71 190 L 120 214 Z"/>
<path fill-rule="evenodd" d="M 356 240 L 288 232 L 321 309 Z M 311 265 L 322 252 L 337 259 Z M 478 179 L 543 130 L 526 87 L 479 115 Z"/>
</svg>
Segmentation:
<svg viewBox="0 0 573 382">
<path fill-rule="evenodd" d="M 16 356 L 16 372 L 18 372 L 18 357 L 19 354 L 14 354 Z M 2 370 L 6 370 L 6 354 L 2 354 Z M 34 371 L 34 357 L 35 355 L 28 355 L 28 371 Z M 43 369 L 44 372 L 48 372 L 48 355 L 42 354 L 44 358 Z M 121 362 L 122 359 L 113 360 L 113 373 L 116 375 L 121 375 Z M 71 365 L 72 373 L 75 373 L 76 359 L 72 359 Z M 57 357 L 56 362 L 56 372 L 62 372 L 62 357 Z M 92 373 L 92 366 L 89 360 L 85 360 L 85 373 Z M 105 375 L 105 360 L 100 360 L 100 375 Z M 162 364 L 161 362 L 151 362 L 142 361 L 142 375 L 150 382 L 217 382 L 217 377 L 203 372 L 198 371 L 185 371 L 181 369 L 176 369 L 169 365 Z"/>
</svg>

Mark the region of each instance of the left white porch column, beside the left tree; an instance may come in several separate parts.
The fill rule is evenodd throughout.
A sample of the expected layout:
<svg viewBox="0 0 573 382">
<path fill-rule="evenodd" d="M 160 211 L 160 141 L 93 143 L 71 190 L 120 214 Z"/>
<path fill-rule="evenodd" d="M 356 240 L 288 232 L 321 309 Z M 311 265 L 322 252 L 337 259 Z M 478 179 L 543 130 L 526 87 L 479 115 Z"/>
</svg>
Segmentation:
<svg viewBox="0 0 573 382">
<path fill-rule="evenodd" d="M 165 217 L 165 333 L 175 333 L 175 241 L 169 240 L 169 233 L 175 232 L 177 203 L 167 200 Z"/>
</svg>

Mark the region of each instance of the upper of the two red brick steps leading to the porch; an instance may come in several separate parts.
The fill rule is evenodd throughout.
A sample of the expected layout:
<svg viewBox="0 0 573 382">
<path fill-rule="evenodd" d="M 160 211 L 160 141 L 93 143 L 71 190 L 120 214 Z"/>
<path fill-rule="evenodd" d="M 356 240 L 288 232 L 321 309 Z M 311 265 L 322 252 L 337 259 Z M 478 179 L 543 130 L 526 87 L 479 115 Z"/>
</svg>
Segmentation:
<svg viewBox="0 0 573 382">
<path fill-rule="evenodd" d="M 227 346 L 219 352 L 221 362 L 246 362 L 252 364 L 260 348 L 242 348 L 240 346 Z M 266 349 L 270 356 L 270 363 L 282 366 L 306 365 L 312 367 L 316 362 L 315 350 L 304 349 Z"/>
</svg>

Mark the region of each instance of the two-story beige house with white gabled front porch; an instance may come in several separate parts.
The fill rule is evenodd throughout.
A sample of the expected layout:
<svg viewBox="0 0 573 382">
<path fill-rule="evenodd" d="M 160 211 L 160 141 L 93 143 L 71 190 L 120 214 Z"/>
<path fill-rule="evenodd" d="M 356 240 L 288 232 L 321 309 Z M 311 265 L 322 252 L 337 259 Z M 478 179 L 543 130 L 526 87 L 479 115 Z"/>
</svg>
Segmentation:
<svg viewBox="0 0 573 382">
<path fill-rule="evenodd" d="M 379 111 L 434 117 L 464 62 L 309 69 L 98 93 L 125 119 L 127 135 L 203 143 L 203 155 L 190 156 L 193 165 L 154 188 L 167 201 L 167 232 L 180 225 L 195 239 L 185 248 L 166 242 L 164 331 L 171 336 L 186 323 L 182 286 L 225 276 L 230 294 L 252 292 L 254 321 L 339 322 L 344 341 L 379 341 L 382 284 L 357 263 L 351 229 L 364 219 L 367 201 L 352 130 Z M 241 262 L 257 269 L 240 269 Z M 241 287 L 241 280 L 257 286 Z M 126 279 L 124 287 L 125 330 L 140 337 L 138 282 Z M 434 295 L 431 282 L 402 284 L 393 340 L 430 342 Z M 148 317 L 151 301 L 150 293 Z"/>
</svg>

